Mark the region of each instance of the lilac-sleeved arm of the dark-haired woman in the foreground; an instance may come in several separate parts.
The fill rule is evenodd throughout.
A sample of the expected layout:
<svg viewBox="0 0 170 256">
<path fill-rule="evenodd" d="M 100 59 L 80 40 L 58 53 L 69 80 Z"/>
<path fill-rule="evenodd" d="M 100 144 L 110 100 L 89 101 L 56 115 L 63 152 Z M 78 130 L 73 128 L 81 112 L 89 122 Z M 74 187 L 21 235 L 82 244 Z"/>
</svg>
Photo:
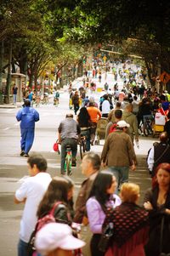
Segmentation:
<svg viewBox="0 0 170 256">
<path fill-rule="evenodd" d="M 104 219 L 101 219 L 101 214 L 99 213 L 103 212 L 103 210 L 101 209 L 99 202 L 97 202 L 95 199 L 90 198 L 86 203 L 86 208 L 88 212 L 90 230 L 94 234 L 100 234 L 102 231 L 102 225 L 105 217 Z"/>
</svg>

